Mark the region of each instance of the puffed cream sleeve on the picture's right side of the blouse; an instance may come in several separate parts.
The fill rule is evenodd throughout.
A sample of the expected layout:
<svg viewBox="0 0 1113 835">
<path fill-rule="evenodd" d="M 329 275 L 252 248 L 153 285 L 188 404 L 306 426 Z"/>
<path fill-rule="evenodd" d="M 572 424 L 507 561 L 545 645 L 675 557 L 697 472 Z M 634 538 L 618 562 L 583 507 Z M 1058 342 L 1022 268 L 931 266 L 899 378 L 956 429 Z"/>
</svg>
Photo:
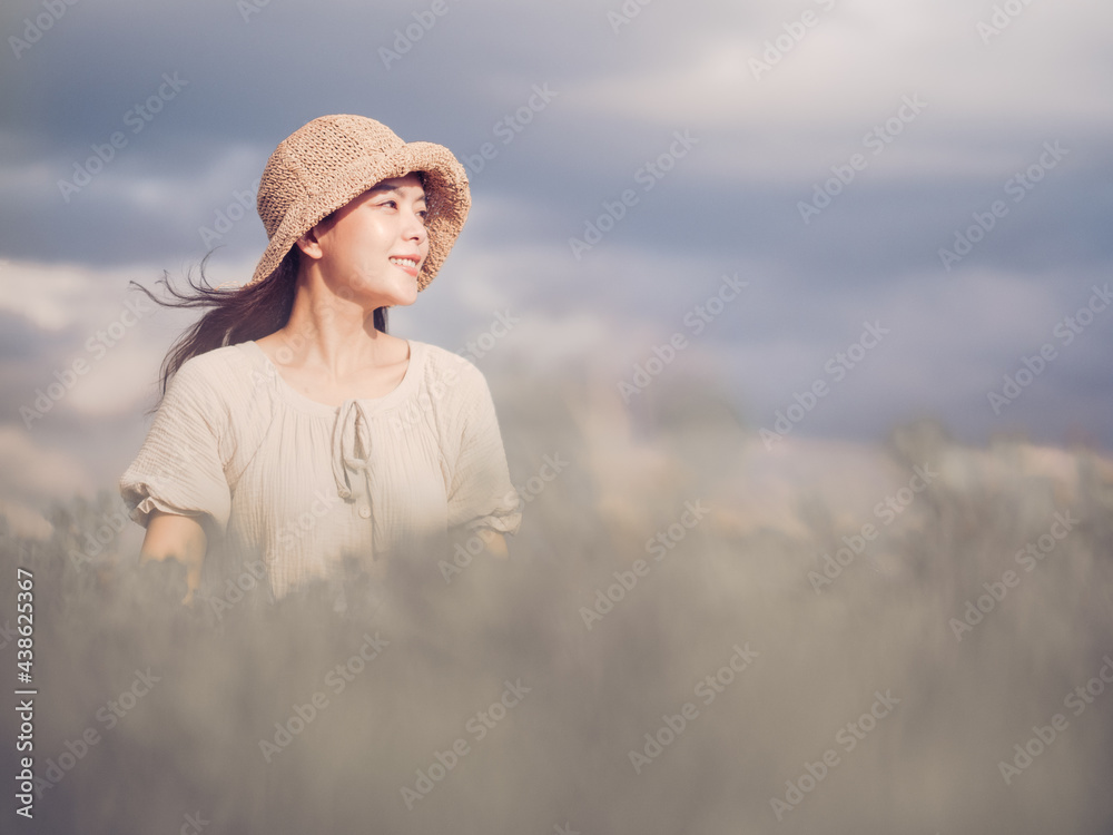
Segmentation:
<svg viewBox="0 0 1113 835">
<path fill-rule="evenodd" d="M 490 528 L 514 534 L 522 523 L 521 498 L 510 481 L 491 390 L 479 369 L 471 366 L 471 372 L 449 491 L 449 528 Z"/>
</svg>

